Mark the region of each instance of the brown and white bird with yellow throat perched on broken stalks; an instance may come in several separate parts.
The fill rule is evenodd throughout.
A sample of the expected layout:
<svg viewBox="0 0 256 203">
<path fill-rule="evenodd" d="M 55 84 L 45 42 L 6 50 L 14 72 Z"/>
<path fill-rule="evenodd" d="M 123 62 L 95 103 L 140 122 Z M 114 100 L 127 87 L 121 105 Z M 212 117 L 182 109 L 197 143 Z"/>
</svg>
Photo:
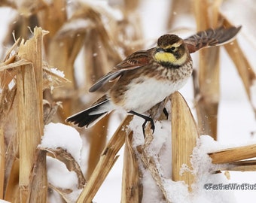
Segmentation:
<svg viewBox="0 0 256 203">
<path fill-rule="evenodd" d="M 145 120 L 142 125 L 144 135 L 148 122 L 154 133 L 154 120 L 147 111 L 187 82 L 193 71 L 190 53 L 226 44 L 240 29 L 241 26 L 221 26 L 197 32 L 185 39 L 173 34 L 160 36 L 157 46 L 132 53 L 94 83 L 89 92 L 96 92 L 114 81 L 105 95 L 90 108 L 68 117 L 66 122 L 88 128 L 109 112 L 120 109 Z"/>
</svg>

